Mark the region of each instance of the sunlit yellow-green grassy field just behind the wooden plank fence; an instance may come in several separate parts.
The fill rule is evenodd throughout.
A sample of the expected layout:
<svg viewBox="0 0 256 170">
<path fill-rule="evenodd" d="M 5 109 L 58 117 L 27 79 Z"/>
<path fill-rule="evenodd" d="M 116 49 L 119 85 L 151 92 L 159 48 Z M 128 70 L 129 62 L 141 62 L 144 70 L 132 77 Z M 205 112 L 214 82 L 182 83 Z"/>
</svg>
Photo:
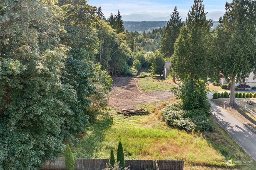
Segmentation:
<svg viewBox="0 0 256 170">
<path fill-rule="evenodd" d="M 126 159 L 185 160 L 185 169 L 221 169 L 229 159 L 252 160 L 214 120 L 216 131 L 212 133 L 188 134 L 167 127 L 161 121 L 161 109 L 173 101 L 142 105 L 152 113 L 142 116 L 109 116 L 115 114 L 109 108 L 85 129 L 86 134 L 72 147 L 74 156 L 109 158 L 111 149 L 116 155 L 122 141 Z M 237 168 L 256 169 L 256 163 Z"/>
</svg>

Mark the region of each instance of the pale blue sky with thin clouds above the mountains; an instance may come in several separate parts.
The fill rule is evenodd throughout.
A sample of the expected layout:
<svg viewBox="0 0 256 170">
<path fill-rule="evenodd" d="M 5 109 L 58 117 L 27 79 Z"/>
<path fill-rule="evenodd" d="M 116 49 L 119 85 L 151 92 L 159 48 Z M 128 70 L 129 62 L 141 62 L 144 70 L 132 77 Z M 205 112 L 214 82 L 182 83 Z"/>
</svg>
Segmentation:
<svg viewBox="0 0 256 170">
<path fill-rule="evenodd" d="M 204 0 L 205 11 L 225 11 L 225 2 L 232 0 Z M 177 5 L 178 10 L 187 12 L 191 9 L 194 0 L 88 0 L 92 6 L 101 5 L 102 12 L 109 16 L 112 12 L 117 13 L 120 10 L 121 15 L 128 15 L 142 11 L 147 12 L 172 12 Z"/>
</svg>

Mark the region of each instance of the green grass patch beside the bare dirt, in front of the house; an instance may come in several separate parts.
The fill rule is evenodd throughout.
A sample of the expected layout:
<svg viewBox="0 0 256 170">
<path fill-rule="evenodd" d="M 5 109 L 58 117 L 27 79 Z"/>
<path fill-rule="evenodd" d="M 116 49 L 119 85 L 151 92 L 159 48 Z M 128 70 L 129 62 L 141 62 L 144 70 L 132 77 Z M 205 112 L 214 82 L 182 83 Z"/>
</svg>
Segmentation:
<svg viewBox="0 0 256 170">
<path fill-rule="evenodd" d="M 167 83 L 165 80 L 161 80 L 161 77 L 153 78 L 141 78 L 139 79 L 139 89 L 144 92 L 151 92 L 156 90 L 172 90 L 174 84 Z"/>
</svg>

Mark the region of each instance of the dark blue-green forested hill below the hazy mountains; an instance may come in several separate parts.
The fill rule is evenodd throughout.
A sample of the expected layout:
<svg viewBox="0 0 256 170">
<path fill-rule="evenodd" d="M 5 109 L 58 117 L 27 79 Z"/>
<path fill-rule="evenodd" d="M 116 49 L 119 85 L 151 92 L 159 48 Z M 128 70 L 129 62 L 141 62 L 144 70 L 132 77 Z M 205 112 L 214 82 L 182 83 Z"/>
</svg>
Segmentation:
<svg viewBox="0 0 256 170">
<path fill-rule="evenodd" d="M 212 30 L 218 26 L 219 22 L 214 21 L 214 25 L 211 28 Z M 129 32 L 139 32 L 142 34 L 144 31 L 149 32 L 155 28 L 165 27 L 167 21 L 124 21 L 124 28 Z"/>
</svg>

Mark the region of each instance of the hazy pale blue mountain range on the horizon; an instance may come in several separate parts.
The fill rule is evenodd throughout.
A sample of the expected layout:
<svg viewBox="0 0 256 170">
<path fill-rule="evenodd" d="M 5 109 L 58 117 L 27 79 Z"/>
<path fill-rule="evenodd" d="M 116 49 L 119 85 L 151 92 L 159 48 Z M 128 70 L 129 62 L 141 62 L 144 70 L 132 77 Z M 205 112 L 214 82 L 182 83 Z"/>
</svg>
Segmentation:
<svg viewBox="0 0 256 170">
<path fill-rule="evenodd" d="M 169 21 L 171 12 L 134 12 L 129 15 L 122 15 L 123 21 Z M 179 12 L 181 19 L 184 21 L 187 17 L 187 12 Z M 223 11 L 209 12 L 206 17 L 207 19 L 213 19 L 219 21 L 219 17 L 223 16 Z"/>
</svg>

